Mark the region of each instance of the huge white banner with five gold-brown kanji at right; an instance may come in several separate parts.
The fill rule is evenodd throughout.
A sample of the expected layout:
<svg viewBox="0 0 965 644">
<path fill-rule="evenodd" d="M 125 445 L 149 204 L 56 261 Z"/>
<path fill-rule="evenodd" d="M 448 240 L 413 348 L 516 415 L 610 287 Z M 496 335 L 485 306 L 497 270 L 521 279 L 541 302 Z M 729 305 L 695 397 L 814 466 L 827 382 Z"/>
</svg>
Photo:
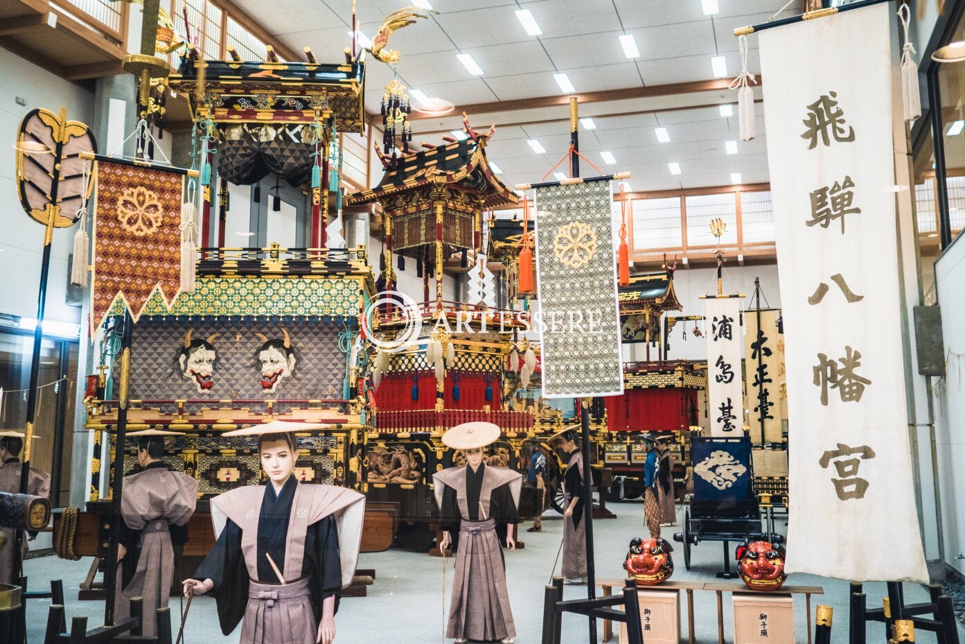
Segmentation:
<svg viewBox="0 0 965 644">
<path fill-rule="evenodd" d="M 898 297 L 896 183 L 907 191 L 908 179 L 894 165 L 893 13 L 882 3 L 758 35 L 784 309 L 787 571 L 925 582 Z"/>
</svg>

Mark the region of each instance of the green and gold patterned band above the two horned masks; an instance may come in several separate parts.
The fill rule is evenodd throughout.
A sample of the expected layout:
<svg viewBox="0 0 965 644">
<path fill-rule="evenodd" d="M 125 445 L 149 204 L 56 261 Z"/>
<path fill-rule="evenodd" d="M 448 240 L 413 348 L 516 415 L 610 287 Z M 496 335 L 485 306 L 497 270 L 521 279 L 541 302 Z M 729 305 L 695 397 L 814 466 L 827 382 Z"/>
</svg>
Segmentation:
<svg viewBox="0 0 965 644">
<path fill-rule="evenodd" d="M 181 293 L 168 310 L 155 291 L 142 316 L 338 316 L 354 318 L 363 306 L 362 283 L 344 277 L 198 277 L 194 293 Z M 124 315 L 114 302 L 110 315 Z"/>
</svg>

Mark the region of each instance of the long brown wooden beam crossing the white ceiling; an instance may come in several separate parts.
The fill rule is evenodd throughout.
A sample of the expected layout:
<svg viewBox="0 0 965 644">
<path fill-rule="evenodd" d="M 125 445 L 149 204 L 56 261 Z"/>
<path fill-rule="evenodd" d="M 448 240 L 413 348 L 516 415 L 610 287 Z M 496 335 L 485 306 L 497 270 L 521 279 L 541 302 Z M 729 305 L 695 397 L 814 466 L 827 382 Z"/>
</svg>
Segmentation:
<svg viewBox="0 0 965 644">
<path fill-rule="evenodd" d="M 761 82 L 758 76 L 758 84 Z M 719 92 L 730 90 L 730 78 L 715 78 L 713 80 L 698 80 L 686 83 L 670 83 L 668 85 L 651 85 L 649 87 L 627 87 L 620 90 L 601 90 L 599 92 L 580 92 L 570 95 L 557 95 L 552 97 L 537 98 L 517 98 L 514 100 L 494 100 L 485 103 L 470 103 L 467 105 L 456 105 L 454 112 L 447 114 L 461 114 L 465 112 L 467 116 L 474 114 L 492 114 L 496 112 L 513 112 L 525 109 L 539 109 L 545 107 L 562 107 L 569 104 L 569 98 L 576 97 L 581 105 L 597 102 L 608 102 L 613 100 L 626 100 L 628 98 L 657 98 L 669 97 L 680 94 L 696 94 L 699 92 Z M 665 110 L 666 111 L 666 110 Z M 424 121 L 426 119 L 438 119 L 438 116 L 419 114 L 415 111 L 409 115 L 410 121 Z"/>
</svg>

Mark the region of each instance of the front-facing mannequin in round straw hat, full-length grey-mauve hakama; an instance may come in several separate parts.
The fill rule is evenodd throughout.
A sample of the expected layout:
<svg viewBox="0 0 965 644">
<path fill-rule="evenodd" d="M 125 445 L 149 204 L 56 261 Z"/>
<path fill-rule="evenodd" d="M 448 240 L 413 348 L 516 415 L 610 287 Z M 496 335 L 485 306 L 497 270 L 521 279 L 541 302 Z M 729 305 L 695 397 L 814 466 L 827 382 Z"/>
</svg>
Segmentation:
<svg viewBox="0 0 965 644">
<path fill-rule="evenodd" d="M 523 477 L 506 467 L 483 462 L 483 448 L 502 431 L 491 423 L 464 423 L 442 436 L 442 442 L 460 449 L 466 464 L 436 472 L 435 500 L 443 550 L 456 544 L 453 599 L 449 606 L 446 637 L 512 642 L 516 636 L 506 587 L 506 562 L 500 546 L 511 550 L 515 542 L 506 530 L 519 522 L 519 492 Z M 501 533 L 501 534 L 500 534 Z M 499 558 L 496 553 L 499 553 Z"/>
</svg>

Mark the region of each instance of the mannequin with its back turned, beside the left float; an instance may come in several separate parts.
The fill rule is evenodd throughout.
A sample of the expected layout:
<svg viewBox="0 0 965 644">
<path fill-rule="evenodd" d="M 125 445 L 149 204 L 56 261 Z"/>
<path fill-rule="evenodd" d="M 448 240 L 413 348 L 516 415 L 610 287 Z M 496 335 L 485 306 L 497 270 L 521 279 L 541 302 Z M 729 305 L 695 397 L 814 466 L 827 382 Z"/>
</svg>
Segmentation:
<svg viewBox="0 0 965 644">
<path fill-rule="evenodd" d="M 143 598 L 143 634 L 155 635 L 155 611 L 168 605 L 175 552 L 187 543 L 187 522 L 198 501 L 198 481 L 171 471 L 161 460 L 164 436 L 180 434 L 147 430 L 127 435 L 137 438 L 137 462 L 143 471 L 124 477 L 115 615 L 118 619 L 129 617 L 131 598 Z"/>
</svg>

